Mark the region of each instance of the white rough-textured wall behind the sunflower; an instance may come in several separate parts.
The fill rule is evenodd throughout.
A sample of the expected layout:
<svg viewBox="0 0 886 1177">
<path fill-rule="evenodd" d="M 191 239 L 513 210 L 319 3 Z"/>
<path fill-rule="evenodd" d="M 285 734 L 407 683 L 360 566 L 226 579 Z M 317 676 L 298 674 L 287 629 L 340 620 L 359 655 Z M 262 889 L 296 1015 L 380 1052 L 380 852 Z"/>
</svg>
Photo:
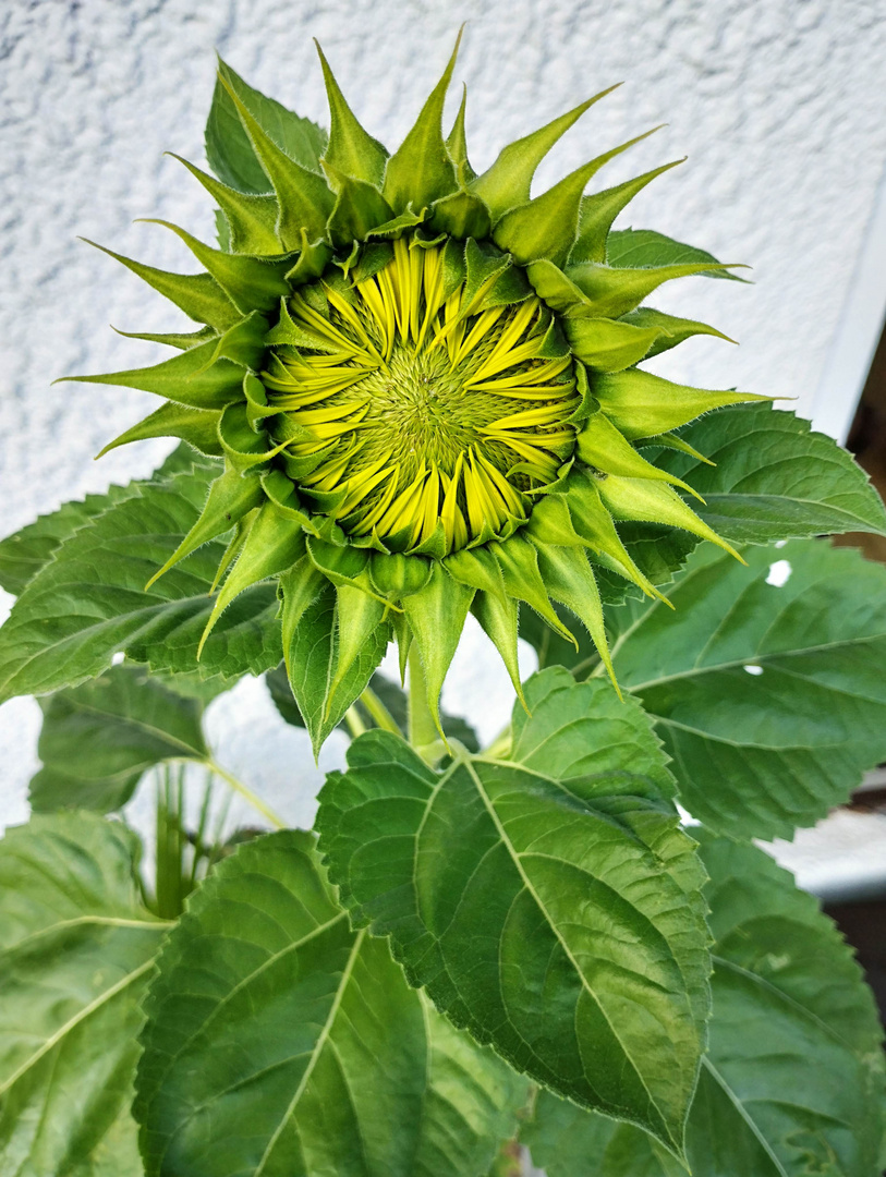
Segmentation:
<svg viewBox="0 0 886 1177">
<path fill-rule="evenodd" d="M 75 235 L 189 268 L 184 246 L 132 220 L 165 217 L 212 232 L 202 189 L 161 153 L 201 161 L 214 48 L 247 80 L 325 120 L 311 44 L 318 36 L 369 129 L 395 145 L 468 19 L 457 79 L 468 84 L 479 167 L 508 139 L 625 80 L 558 146 L 539 181 L 667 121 L 629 159 L 609 165 L 602 184 L 688 154 L 688 164 L 637 199 L 625 224 L 748 261 L 757 285 L 692 279 L 657 298 L 741 341 L 740 348 L 691 341 L 659 370 L 710 387 L 798 397 L 802 410 L 826 363 L 886 160 L 882 15 L 881 0 L 7 0 L 0 13 L 4 531 L 109 480 L 144 474 L 165 452 L 161 443 L 145 444 L 93 465 L 101 445 L 153 398 L 49 383 L 67 372 L 151 363 L 151 346 L 114 335 L 108 322 L 158 331 L 179 321 L 174 308 Z M 451 705 L 467 705 L 468 691 L 479 701 L 494 689 L 486 666 L 473 639 Z M 245 690 L 240 719 L 269 724 L 261 712 L 261 693 Z M 7 819 L 24 812 L 36 729 L 32 701 L 0 709 Z M 245 754 L 234 738 L 229 756 Z M 287 733 L 266 769 L 268 787 L 292 790 L 304 764 L 304 747 Z M 315 779 L 306 778 L 293 816 L 306 812 L 300 806 Z"/>
</svg>

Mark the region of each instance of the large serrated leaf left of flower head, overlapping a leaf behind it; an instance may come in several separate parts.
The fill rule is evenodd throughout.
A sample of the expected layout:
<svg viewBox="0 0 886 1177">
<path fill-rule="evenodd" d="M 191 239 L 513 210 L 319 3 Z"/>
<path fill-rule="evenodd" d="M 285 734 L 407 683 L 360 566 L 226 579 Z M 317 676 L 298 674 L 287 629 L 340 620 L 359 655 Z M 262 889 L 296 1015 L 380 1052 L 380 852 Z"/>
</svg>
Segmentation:
<svg viewBox="0 0 886 1177">
<path fill-rule="evenodd" d="M 0 700 L 74 686 L 125 652 L 152 670 L 187 672 L 212 612 L 209 587 L 225 551 L 204 545 L 166 573 L 161 567 L 195 523 L 218 463 L 196 461 L 167 478 L 138 484 L 65 539 L 31 580 L 0 630 Z M 199 670 L 237 677 L 280 660 L 272 584 L 244 592 L 219 619 Z"/>
</svg>

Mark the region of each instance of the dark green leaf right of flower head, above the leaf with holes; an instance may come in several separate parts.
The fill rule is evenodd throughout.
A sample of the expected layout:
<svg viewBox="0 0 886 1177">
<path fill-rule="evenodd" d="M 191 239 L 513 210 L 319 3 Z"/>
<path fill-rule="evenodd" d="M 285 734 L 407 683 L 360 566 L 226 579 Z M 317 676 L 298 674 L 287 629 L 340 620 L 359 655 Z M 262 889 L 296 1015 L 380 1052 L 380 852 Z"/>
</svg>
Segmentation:
<svg viewBox="0 0 886 1177">
<path fill-rule="evenodd" d="M 705 498 L 698 514 L 726 539 L 766 544 L 847 531 L 886 534 L 886 508 L 867 474 L 801 417 L 761 405 L 721 408 L 679 437 L 717 466 L 671 450 L 655 465 Z"/>
</svg>

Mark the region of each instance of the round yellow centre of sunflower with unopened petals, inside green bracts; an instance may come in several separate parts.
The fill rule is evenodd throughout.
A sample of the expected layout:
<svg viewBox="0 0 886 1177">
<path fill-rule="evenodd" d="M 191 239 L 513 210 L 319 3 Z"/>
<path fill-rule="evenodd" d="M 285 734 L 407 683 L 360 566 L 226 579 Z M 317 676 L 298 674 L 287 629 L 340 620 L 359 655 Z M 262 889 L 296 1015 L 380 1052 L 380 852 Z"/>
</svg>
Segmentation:
<svg viewBox="0 0 886 1177">
<path fill-rule="evenodd" d="M 508 533 L 572 453 L 572 357 L 534 295 L 489 305 L 498 278 L 447 291 L 444 247 L 400 239 L 291 299 L 302 344 L 262 379 L 300 491 L 349 534 L 440 554 Z"/>
</svg>

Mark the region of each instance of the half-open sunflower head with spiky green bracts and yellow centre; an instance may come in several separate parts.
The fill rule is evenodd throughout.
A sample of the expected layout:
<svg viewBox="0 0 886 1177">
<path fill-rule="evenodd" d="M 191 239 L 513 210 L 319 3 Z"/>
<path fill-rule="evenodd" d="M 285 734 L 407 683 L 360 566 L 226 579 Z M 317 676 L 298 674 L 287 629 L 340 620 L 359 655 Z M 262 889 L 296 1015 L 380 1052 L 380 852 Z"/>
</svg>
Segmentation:
<svg viewBox="0 0 886 1177">
<path fill-rule="evenodd" d="M 246 146 L 252 172 L 216 178 L 182 160 L 219 205 L 221 247 L 167 225 L 202 272 L 112 254 L 200 327 L 140 337 L 180 351 L 152 368 L 76 378 L 165 398 L 107 448 L 172 435 L 224 458 L 200 518 L 153 578 L 231 533 L 204 640 L 238 593 L 275 578 L 301 704 L 300 627 L 334 594 L 315 744 L 389 636 L 401 657 L 414 643 L 437 713 L 468 610 L 518 692 L 520 604 L 572 638 L 555 609 L 566 606 L 612 672 L 595 570 L 657 591 L 620 523 L 685 528 L 732 551 L 678 493 L 692 488 L 642 448 L 687 448 L 673 430 L 765 399 L 637 366 L 692 334 L 719 334 L 641 302 L 664 281 L 728 267 L 609 264 L 615 217 L 673 164 L 586 194 L 632 139 L 531 195 L 544 155 L 608 91 L 478 175 L 464 99 L 444 138 L 455 53 L 392 155 L 357 121 L 322 53 L 331 131 L 313 128 L 308 147 L 275 131 L 268 100 L 221 64 L 216 124 Z"/>
</svg>

